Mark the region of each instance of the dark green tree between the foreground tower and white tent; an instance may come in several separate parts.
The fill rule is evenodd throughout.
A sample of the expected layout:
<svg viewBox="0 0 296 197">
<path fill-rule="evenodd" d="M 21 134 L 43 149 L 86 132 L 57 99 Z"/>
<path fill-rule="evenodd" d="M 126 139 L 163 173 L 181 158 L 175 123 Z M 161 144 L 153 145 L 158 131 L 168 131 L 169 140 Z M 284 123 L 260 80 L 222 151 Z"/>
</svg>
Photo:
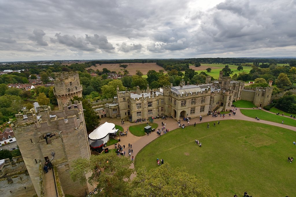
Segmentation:
<svg viewBox="0 0 296 197">
<path fill-rule="evenodd" d="M 73 99 L 70 101 L 72 104 L 74 104 L 74 101 L 78 100 L 82 102 L 82 107 L 83 107 L 83 115 L 84 115 L 84 121 L 85 121 L 85 126 L 86 126 L 86 131 L 89 133 L 91 131 L 94 131 L 94 128 L 99 125 L 99 116 L 97 113 L 94 111 L 94 109 L 91 107 L 91 103 L 78 96 L 74 96 Z"/>
</svg>

